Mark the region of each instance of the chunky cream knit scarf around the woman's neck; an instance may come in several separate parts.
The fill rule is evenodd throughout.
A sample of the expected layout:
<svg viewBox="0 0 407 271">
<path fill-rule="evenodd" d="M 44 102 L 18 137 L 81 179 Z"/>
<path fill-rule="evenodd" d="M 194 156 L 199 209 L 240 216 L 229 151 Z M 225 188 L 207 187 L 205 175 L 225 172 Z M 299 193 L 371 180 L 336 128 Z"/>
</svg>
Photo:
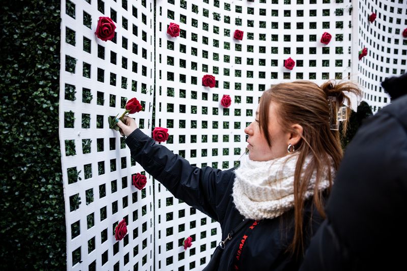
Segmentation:
<svg viewBox="0 0 407 271">
<path fill-rule="evenodd" d="M 239 168 L 235 170 L 232 197 L 236 208 L 245 218 L 272 219 L 294 207 L 294 171 L 298 154 L 288 155 L 270 161 L 252 161 L 244 155 Z M 303 168 L 310 162 L 305 159 Z M 334 170 L 332 169 L 332 179 Z M 314 171 L 305 198 L 313 195 L 316 171 Z M 329 186 L 328 170 L 322 174 L 319 190 Z"/>
</svg>

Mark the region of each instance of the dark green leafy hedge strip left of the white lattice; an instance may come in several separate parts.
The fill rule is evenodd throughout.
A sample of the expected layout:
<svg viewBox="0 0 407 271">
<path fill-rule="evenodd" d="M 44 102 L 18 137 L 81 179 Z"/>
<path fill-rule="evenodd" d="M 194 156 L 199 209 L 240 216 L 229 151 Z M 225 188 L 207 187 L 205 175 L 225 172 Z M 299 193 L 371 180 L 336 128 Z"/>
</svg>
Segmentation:
<svg viewBox="0 0 407 271">
<path fill-rule="evenodd" d="M 61 2 L 4 1 L 0 16 L 0 270 L 63 270 Z"/>
</svg>

